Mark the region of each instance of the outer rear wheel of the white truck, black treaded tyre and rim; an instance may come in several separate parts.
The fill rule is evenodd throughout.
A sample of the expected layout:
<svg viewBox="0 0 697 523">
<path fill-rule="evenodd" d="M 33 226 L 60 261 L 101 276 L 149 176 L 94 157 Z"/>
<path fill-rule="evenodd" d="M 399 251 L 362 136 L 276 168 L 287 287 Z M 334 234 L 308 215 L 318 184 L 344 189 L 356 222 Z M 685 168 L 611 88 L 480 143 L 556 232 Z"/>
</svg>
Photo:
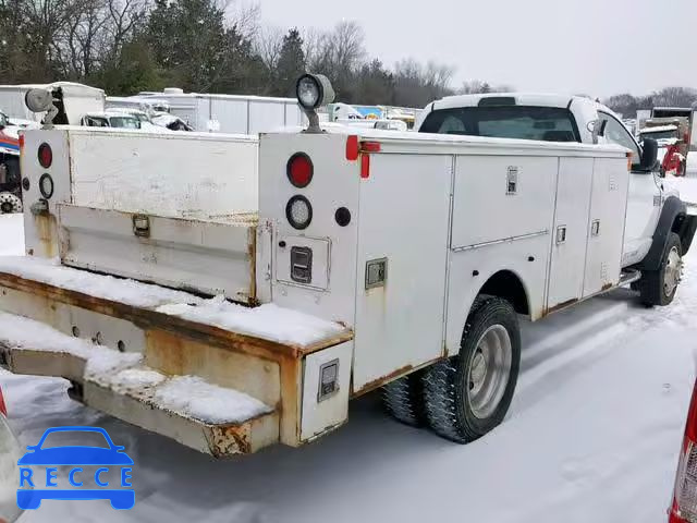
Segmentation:
<svg viewBox="0 0 697 523">
<path fill-rule="evenodd" d="M 472 307 L 460 354 L 428 367 L 426 417 L 458 443 L 480 438 L 505 416 L 521 366 L 521 332 L 511 303 L 481 296 Z"/>
</svg>

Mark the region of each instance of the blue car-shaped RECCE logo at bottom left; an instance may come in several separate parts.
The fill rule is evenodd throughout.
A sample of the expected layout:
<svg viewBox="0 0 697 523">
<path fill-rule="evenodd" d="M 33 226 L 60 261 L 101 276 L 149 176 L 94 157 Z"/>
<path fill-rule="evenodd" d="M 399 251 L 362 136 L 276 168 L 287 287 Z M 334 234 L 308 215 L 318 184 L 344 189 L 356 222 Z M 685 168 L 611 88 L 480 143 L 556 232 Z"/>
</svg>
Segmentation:
<svg viewBox="0 0 697 523">
<path fill-rule="evenodd" d="M 103 436 L 108 448 L 93 446 L 48 447 L 46 438 L 54 433 L 97 433 Z M 93 500 L 108 499 L 111 507 L 129 510 L 135 504 L 135 491 L 130 483 L 133 460 L 124 452 L 124 447 L 113 443 L 109 434 L 99 427 L 54 427 L 44 433 L 36 446 L 27 447 L 28 452 L 20 458 L 20 488 L 17 506 L 24 510 L 38 509 L 45 499 Z M 58 485 L 57 466 L 70 466 L 66 477 L 75 488 L 62 488 Z M 97 466 L 94 475 L 83 467 Z M 37 467 L 46 467 L 46 482 Z M 113 488 L 113 479 L 107 475 L 113 469 L 120 469 L 119 487 Z M 94 476 L 96 488 L 83 488 Z M 111 485 L 110 485 L 111 483 Z M 42 488 L 46 486 L 46 488 Z"/>
</svg>

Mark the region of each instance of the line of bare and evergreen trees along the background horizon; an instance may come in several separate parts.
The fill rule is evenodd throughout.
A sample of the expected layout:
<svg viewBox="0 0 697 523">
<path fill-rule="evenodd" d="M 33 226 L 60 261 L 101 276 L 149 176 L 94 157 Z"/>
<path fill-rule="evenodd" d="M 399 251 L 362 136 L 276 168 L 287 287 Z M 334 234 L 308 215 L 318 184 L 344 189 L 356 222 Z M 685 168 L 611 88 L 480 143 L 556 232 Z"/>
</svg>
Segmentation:
<svg viewBox="0 0 697 523">
<path fill-rule="evenodd" d="M 294 96 L 304 72 L 329 76 L 347 104 L 424 107 L 453 94 L 512 90 L 481 81 L 453 87 L 454 68 L 366 50 L 355 22 L 330 29 L 262 26 L 234 0 L 0 0 L 0 82 L 81 82 L 110 95 L 182 87 L 195 93 Z M 697 92 L 670 87 L 606 102 L 625 115 L 685 106 Z"/>
</svg>

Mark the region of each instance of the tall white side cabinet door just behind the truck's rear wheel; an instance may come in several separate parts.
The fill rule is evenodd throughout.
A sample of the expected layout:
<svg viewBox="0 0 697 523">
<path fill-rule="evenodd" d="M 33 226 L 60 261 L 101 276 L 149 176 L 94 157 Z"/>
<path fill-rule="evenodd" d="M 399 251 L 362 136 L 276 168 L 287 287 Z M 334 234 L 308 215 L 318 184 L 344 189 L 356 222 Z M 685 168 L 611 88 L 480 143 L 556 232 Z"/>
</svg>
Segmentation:
<svg viewBox="0 0 697 523">
<path fill-rule="evenodd" d="M 443 353 L 451 156 L 372 155 L 360 182 L 353 388 Z M 387 258 L 384 285 L 366 264 Z"/>
</svg>

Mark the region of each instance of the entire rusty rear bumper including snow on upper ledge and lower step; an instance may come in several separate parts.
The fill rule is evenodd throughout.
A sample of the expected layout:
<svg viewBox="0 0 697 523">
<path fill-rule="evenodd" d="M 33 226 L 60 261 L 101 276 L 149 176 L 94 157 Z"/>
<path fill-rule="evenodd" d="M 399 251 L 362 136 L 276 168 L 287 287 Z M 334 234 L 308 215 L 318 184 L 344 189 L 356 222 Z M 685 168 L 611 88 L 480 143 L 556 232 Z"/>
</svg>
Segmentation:
<svg viewBox="0 0 697 523">
<path fill-rule="evenodd" d="M 0 265 L 0 353 L 15 374 L 64 377 L 85 404 L 216 457 L 297 447 L 346 419 L 348 329 L 60 266 Z M 319 404 L 316 374 L 339 360 L 341 387 Z"/>
</svg>

